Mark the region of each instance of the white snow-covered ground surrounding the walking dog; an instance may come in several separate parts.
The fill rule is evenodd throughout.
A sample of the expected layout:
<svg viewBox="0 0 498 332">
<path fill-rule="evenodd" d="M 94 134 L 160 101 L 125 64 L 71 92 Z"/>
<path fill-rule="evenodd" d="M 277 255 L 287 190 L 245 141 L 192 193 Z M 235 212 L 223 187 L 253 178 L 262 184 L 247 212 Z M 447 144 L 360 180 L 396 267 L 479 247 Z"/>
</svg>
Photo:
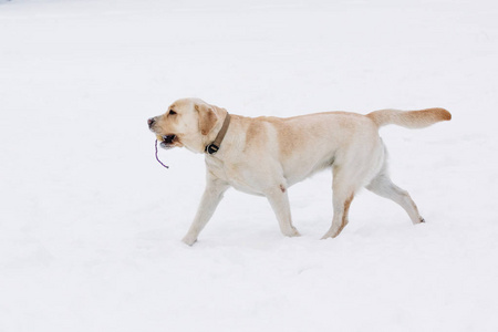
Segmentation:
<svg viewBox="0 0 498 332">
<path fill-rule="evenodd" d="M 0 331 L 497 331 L 495 1 L 0 1 Z M 301 238 L 231 190 L 180 242 L 201 155 L 154 159 L 146 118 L 198 96 L 243 115 L 443 106 L 382 129 L 427 224 L 331 175 L 290 189 Z"/>
</svg>

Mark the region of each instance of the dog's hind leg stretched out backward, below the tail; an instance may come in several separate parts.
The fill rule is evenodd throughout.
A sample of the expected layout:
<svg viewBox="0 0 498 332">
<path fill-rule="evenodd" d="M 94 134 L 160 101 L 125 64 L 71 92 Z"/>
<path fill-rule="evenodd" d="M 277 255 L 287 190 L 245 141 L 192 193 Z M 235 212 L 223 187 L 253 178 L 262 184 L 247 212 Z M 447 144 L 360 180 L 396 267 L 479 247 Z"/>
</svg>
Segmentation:
<svg viewBox="0 0 498 332">
<path fill-rule="evenodd" d="M 418 212 L 417 206 L 413 201 L 412 197 L 409 197 L 408 193 L 393 184 L 385 172 L 378 174 L 370 183 L 370 185 L 366 186 L 366 188 L 372 193 L 377 194 L 378 196 L 388 198 L 397 203 L 402 208 L 405 209 L 414 225 L 425 222 L 424 218 L 422 218 L 421 214 Z"/>
</svg>

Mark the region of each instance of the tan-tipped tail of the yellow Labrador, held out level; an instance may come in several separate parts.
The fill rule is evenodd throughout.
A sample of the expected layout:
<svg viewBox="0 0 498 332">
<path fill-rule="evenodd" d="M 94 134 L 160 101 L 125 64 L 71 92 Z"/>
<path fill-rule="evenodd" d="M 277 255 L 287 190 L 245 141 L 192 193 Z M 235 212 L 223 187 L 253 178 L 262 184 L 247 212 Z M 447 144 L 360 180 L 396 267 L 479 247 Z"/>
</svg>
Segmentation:
<svg viewBox="0 0 498 332">
<path fill-rule="evenodd" d="M 381 110 L 367 114 L 381 127 L 395 124 L 406 128 L 424 128 L 436 122 L 452 120 L 452 114 L 445 108 L 427 108 L 422 111 Z"/>
</svg>

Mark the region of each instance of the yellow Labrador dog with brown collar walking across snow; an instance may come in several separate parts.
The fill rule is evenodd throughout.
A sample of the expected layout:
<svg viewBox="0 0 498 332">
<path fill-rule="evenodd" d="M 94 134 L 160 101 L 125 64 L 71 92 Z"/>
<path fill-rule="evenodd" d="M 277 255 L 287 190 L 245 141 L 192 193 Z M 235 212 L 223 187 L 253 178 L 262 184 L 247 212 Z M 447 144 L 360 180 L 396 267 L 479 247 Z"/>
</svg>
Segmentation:
<svg viewBox="0 0 498 332">
<path fill-rule="evenodd" d="M 444 108 L 251 118 L 199 98 L 181 98 L 147 123 L 163 148 L 186 147 L 205 154 L 206 188 L 183 238 L 191 246 L 229 187 L 267 197 L 281 232 L 299 236 L 292 225 L 288 189 L 325 168 L 333 173 L 333 218 L 322 239 L 336 237 L 347 225 L 351 201 L 362 187 L 397 203 L 413 224 L 424 222 L 408 193 L 390 179 L 378 128 L 388 124 L 423 128 L 450 118 Z"/>
</svg>

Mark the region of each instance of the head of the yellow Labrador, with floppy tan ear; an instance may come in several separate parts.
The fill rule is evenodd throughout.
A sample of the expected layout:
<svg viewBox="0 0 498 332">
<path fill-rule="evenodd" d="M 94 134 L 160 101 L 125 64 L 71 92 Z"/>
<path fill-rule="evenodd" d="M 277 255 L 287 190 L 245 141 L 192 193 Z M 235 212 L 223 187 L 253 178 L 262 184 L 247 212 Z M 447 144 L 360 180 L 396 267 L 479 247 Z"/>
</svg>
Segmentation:
<svg viewBox="0 0 498 332">
<path fill-rule="evenodd" d="M 165 114 L 152 117 L 147 123 L 163 148 L 185 146 L 203 153 L 214 139 L 214 129 L 221 125 L 222 112 L 201 100 L 184 98 L 174 102 Z"/>
</svg>

